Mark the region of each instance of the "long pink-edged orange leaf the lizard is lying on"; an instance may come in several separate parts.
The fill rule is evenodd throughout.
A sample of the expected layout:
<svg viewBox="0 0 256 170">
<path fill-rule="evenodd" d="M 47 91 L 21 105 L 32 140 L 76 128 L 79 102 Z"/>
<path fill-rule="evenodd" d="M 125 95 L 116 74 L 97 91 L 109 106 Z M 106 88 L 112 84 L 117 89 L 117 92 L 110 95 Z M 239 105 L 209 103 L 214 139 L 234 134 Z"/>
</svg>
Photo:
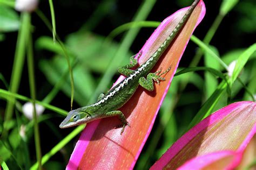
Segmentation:
<svg viewBox="0 0 256 170">
<path fill-rule="evenodd" d="M 158 26 L 141 49 L 143 53 L 139 58 L 139 64 L 145 62 L 163 43 L 187 9 L 183 8 L 175 12 Z M 121 129 L 114 129 L 114 126 L 120 124 L 117 117 L 104 118 L 87 124 L 71 155 L 67 169 L 134 167 L 170 87 L 188 40 L 204 15 L 205 5 L 203 1 L 200 1 L 177 38 L 153 68 L 152 72 L 156 72 L 160 68 L 166 70 L 171 66 L 170 72 L 165 75 L 166 81 L 161 81 L 160 86 L 156 84 L 153 92 L 147 92 L 139 87 L 129 102 L 120 108 L 131 128 L 125 128 L 121 136 Z M 116 83 L 123 79 L 124 77 L 120 76 Z"/>
</svg>

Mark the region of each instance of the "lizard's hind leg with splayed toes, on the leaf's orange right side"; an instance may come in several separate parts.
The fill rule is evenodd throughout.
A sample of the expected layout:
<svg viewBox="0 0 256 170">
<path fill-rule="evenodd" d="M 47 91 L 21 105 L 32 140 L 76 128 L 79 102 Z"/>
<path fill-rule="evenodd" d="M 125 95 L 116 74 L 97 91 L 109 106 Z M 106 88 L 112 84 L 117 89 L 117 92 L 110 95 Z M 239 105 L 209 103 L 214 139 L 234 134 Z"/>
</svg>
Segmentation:
<svg viewBox="0 0 256 170">
<path fill-rule="evenodd" d="M 139 84 L 140 86 L 142 86 L 143 88 L 149 90 L 149 91 L 153 91 L 154 90 L 154 83 L 153 81 L 156 81 L 158 84 L 160 83 L 159 80 L 161 81 L 165 81 L 164 77 L 161 77 L 161 75 L 169 72 L 171 69 L 171 67 L 169 67 L 167 70 L 165 70 L 163 73 L 159 74 L 161 72 L 161 68 L 160 70 L 158 70 L 156 73 L 149 73 L 147 75 L 147 79 L 145 77 L 140 77 L 139 78 Z"/>
</svg>

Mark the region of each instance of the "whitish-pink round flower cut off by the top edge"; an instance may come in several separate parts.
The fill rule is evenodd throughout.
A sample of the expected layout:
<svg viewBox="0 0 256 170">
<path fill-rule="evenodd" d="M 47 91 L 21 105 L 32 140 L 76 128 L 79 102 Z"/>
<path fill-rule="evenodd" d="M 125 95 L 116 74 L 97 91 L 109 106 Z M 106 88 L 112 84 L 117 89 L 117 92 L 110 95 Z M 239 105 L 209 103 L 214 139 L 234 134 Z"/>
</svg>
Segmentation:
<svg viewBox="0 0 256 170">
<path fill-rule="evenodd" d="M 15 9 L 20 12 L 32 12 L 37 8 L 38 0 L 16 0 Z"/>
</svg>

